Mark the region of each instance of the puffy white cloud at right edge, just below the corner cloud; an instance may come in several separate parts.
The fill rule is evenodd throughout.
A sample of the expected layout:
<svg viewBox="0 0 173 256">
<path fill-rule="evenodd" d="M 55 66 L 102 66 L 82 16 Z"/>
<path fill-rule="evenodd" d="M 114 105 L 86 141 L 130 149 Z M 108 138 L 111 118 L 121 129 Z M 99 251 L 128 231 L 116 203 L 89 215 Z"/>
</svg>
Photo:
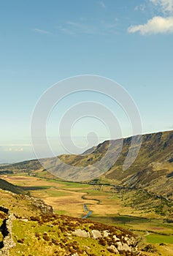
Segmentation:
<svg viewBox="0 0 173 256">
<path fill-rule="evenodd" d="M 139 32 L 140 34 L 173 33 L 173 17 L 163 18 L 161 16 L 155 16 L 143 25 L 130 26 L 128 32 Z"/>
</svg>

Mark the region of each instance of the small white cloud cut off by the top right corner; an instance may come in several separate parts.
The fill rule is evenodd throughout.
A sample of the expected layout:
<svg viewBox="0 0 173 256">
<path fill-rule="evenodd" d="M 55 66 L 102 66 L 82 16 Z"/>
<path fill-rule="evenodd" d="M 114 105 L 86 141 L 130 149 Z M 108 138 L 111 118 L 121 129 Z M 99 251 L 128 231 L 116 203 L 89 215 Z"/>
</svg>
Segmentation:
<svg viewBox="0 0 173 256">
<path fill-rule="evenodd" d="M 150 0 L 163 13 L 173 13 L 173 0 Z"/>
</svg>

